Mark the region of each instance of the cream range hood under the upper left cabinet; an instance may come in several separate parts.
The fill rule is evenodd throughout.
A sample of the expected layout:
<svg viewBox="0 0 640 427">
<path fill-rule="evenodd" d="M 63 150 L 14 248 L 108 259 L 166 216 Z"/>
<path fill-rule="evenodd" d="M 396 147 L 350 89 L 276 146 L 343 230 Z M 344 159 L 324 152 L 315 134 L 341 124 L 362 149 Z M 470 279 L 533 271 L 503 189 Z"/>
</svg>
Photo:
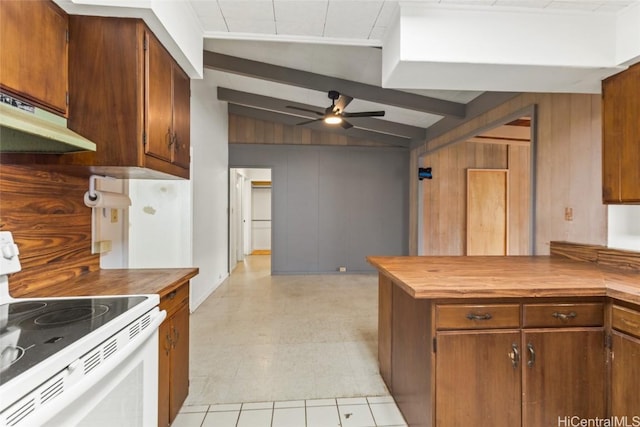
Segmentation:
<svg viewBox="0 0 640 427">
<path fill-rule="evenodd" d="M 67 120 L 0 94 L 0 152 L 61 154 L 96 151 L 96 144 L 67 129 Z"/>
</svg>

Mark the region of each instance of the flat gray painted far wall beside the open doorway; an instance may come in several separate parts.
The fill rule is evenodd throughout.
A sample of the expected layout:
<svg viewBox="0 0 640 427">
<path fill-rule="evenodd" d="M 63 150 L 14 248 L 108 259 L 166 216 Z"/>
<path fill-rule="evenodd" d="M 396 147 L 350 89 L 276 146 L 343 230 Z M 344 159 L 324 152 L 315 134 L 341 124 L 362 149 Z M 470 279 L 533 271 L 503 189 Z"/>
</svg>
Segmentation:
<svg viewBox="0 0 640 427">
<path fill-rule="evenodd" d="M 408 150 L 232 144 L 229 167 L 272 168 L 273 274 L 372 272 L 367 255 L 408 253 Z"/>
</svg>

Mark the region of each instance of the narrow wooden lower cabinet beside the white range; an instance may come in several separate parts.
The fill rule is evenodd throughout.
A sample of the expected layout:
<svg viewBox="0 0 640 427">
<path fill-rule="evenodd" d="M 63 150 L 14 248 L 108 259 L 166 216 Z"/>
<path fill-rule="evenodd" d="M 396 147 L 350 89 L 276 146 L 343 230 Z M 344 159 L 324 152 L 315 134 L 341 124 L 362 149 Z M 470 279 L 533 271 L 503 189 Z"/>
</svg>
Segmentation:
<svg viewBox="0 0 640 427">
<path fill-rule="evenodd" d="M 158 426 L 167 427 L 189 394 L 189 283 L 161 296 L 160 309 Z"/>
</svg>

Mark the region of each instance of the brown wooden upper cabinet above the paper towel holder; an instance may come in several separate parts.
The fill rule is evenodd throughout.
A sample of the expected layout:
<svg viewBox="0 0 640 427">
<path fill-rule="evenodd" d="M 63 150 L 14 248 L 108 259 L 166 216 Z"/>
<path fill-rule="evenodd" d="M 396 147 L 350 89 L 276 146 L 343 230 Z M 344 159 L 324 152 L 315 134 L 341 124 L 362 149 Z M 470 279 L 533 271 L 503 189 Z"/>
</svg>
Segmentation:
<svg viewBox="0 0 640 427">
<path fill-rule="evenodd" d="M 70 129 L 91 139 L 95 153 L 61 156 L 121 178 L 189 178 L 175 116 L 189 127 L 189 110 L 174 102 L 175 75 L 186 76 L 141 20 L 70 16 Z M 184 85 L 181 83 L 181 85 Z M 186 92 L 189 105 L 189 91 Z M 185 158 L 178 153 L 186 151 Z M 179 159 L 179 161 L 176 161 Z"/>
</svg>

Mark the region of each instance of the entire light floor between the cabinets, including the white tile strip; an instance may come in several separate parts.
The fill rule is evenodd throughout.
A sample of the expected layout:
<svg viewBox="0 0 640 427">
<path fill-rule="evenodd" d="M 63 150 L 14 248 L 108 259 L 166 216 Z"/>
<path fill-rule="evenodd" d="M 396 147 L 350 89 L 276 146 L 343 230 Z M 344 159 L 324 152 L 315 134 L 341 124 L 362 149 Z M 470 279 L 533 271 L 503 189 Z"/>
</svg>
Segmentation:
<svg viewBox="0 0 640 427">
<path fill-rule="evenodd" d="M 271 276 L 247 257 L 191 315 L 173 427 L 405 425 L 378 372 L 377 292 L 375 274 Z"/>
</svg>

